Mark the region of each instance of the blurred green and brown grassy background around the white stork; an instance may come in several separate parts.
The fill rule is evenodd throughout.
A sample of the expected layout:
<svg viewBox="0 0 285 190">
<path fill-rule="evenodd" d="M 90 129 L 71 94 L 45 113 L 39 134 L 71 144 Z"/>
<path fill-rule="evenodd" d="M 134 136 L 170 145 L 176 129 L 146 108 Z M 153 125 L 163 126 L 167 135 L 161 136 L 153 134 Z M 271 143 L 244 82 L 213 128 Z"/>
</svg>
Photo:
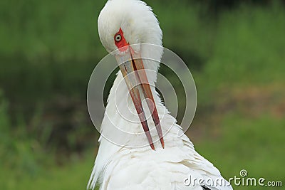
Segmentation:
<svg viewBox="0 0 285 190">
<path fill-rule="evenodd" d="M 285 2 L 147 3 L 195 78 L 197 151 L 226 179 L 247 169 L 285 185 Z M 0 1 L 0 189 L 86 189 L 98 149 L 86 89 L 107 54 L 104 4 Z"/>
</svg>

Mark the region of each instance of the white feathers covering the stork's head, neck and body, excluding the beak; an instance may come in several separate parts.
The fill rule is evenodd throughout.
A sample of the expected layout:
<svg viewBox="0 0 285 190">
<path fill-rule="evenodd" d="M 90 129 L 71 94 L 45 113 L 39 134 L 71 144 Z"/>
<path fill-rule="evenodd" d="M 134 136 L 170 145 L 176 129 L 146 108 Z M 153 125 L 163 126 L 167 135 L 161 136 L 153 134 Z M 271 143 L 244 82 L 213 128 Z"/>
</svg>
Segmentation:
<svg viewBox="0 0 285 190">
<path fill-rule="evenodd" d="M 98 18 L 100 40 L 110 53 L 118 48 L 114 42 L 114 36 L 120 28 L 124 33 L 125 41 L 130 45 L 152 43 L 162 46 L 162 31 L 159 23 L 152 13 L 152 9 L 142 1 L 111 0 L 107 2 L 100 12 Z M 144 48 L 144 46 L 140 46 L 134 51 L 139 51 L 142 57 L 149 57 L 151 54 L 157 60 L 160 60 L 162 56 L 162 51 L 151 51 Z M 144 65 L 146 69 L 155 70 L 156 72 L 159 68 L 159 65 L 151 60 L 144 60 Z M 160 120 L 160 124 L 162 133 L 165 134 L 165 149 L 162 149 L 160 141 L 154 142 L 154 151 L 150 146 L 122 147 L 101 136 L 99 139 L 100 147 L 88 182 L 88 188 L 94 189 L 95 185 L 98 184 L 100 189 L 111 190 L 203 189 L 202 186 L 209 189 L 232 189 L 232 186 L 229 185 L 210 185 L 207 181 L 204 181 L 202 184 L 199 184 L 199 181 L 195 181 L 195 185 L 190 184 L 190 186 L 184 184 L 185 178 L 188 176 L 205 179 L 208 182 L 209 179 L 213 181 L 224 179 L 213 164 L 195 151 L 192 142 L 185 134 L 180 137 L 177 135 L 182 133 L 181 127 L 175 124 L 175 118 L 167 111 L 155 91 L 155 87 L 152 86 L 155 84 L 156 74 L 147 73 L 147 78 L 151 84 L 150 88 L 154 96 L 158 115 L 160 118 L 162 115 L 164 116 L 164 119 Z M 115 124 L 120 130 L 143 134 L 138 115 L 134 116 L 131 114 L 131 112 L 135 112 L 135 106 L 130 97 L 126 98 L 129 92 L 127 85 L 120 83 L 121 80 L 123 80 L 123 75 L 119 71 L 110 90 L 101 132 L 112 132 L 111 126 Z M 133 117 L 133 120 L 138 122 L 128 122 L 121 116 L 118 110 L 125 110 L 124 115 Z M 157 139 L 157 132 L 152 130 L 155 129 L 152 118 L 150 117 L 147 122 L 152 137 Z M 169 131 L 166 132 L 167 130 Z M 141 142 L 138 144 L 147 144 L 145 135 L 133 135 L 126 139 L 122 138 L 122 141 L 125 140 L 126 144 L 136 144 L 138 142 Z"/>
</svg>

